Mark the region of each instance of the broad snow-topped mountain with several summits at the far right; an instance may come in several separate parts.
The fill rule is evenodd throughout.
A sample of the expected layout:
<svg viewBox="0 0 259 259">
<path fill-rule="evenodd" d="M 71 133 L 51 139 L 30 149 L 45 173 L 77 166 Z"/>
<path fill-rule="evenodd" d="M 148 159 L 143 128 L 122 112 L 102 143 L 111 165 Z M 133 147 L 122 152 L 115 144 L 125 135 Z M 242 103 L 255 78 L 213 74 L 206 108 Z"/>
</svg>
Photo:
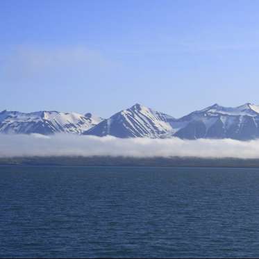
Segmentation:
<svg viewBox="0 0 259 259">
<path fill-rule="evenodd" d="M 172 123 L 178 130 L 175 137 L 232 138 L 251 140 L 259 137 L 259 106 L 245 103 L 236 108 L 215 104 L 177 119 Z"/>
</svg>

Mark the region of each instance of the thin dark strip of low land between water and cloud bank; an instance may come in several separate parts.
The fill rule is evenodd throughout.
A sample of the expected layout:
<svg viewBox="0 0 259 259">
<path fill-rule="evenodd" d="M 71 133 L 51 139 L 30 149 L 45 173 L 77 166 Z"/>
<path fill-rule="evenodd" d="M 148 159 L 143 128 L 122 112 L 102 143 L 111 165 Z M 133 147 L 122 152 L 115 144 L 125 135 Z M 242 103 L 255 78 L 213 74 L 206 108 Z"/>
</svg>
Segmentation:
<svg viewBox="0 0 259 259">
<path fill-rule="evenodd" d="M 51 156 L 0 158 L 0 165 L 80 165 L 119 167 L 259 167 L 259 159 L 240 158 L 126 158 L 109 156 Z"/>
</svg>

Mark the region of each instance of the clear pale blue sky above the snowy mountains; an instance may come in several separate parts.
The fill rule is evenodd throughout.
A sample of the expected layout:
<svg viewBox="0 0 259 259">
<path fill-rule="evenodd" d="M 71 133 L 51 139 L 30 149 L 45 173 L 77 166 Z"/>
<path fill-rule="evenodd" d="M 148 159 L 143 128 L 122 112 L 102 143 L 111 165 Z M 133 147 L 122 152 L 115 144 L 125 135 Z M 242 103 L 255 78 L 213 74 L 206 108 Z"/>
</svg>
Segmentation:
<svg viewBox="0 0 259 259">
<path fill-rule="evenodd" d="M 259 104 L 258 13 L 256 0 L 1 0 L 0 110 Z"/>
</svg>

